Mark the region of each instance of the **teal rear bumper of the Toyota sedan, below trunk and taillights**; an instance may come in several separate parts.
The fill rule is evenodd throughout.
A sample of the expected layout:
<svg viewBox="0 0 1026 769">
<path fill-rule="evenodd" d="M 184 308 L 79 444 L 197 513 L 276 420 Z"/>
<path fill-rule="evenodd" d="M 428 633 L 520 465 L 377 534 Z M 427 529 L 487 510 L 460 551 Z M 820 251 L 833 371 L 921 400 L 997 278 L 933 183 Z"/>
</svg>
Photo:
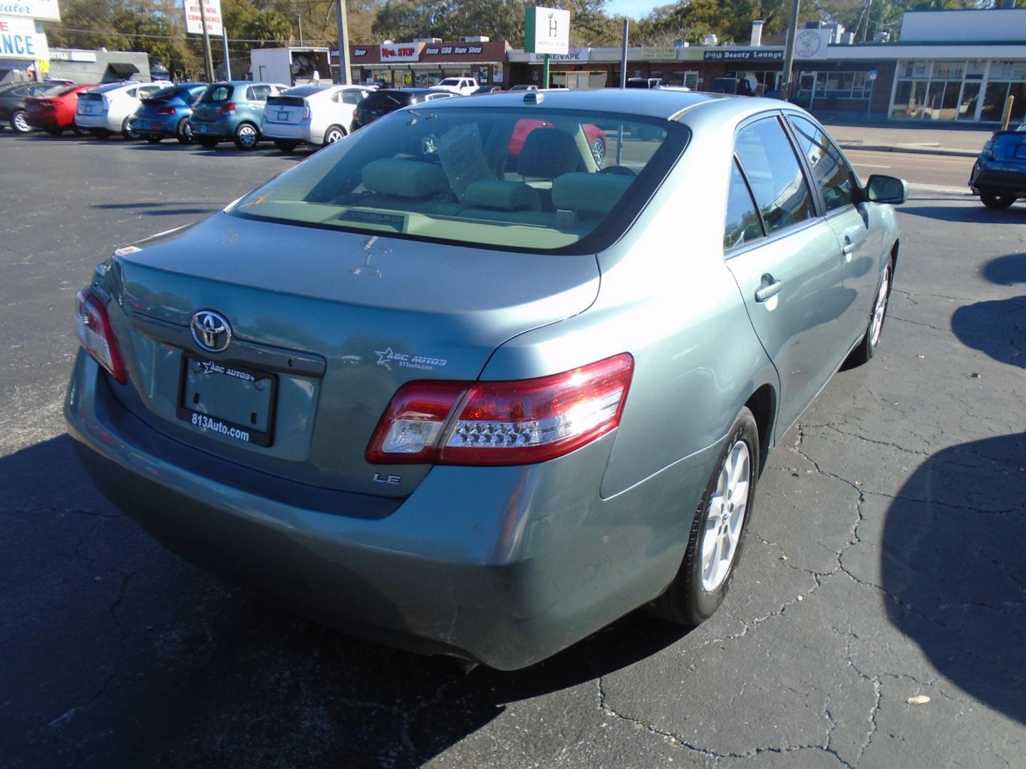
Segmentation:
<svg viewBox="0 0 1026 769">
<path fill-rule="evenodd" d="M 598 487 L 611 434 L 542 464 L 437 467 L 404 500 L 299 484 L 273 498 L 202 472 L 229 463 L 142 424 L 81 353 L 65 415 L 100 489 L 189 560 L 326 624 L 499 670 L 656 598 L 718 450 L 609 499 Z"/>
</svg>

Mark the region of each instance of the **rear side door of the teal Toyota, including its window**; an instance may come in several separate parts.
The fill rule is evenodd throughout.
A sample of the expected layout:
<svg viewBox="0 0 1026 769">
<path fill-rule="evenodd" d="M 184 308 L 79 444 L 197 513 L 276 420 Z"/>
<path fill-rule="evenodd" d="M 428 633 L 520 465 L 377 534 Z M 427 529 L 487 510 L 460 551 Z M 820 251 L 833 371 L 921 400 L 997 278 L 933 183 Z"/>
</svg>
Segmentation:
<svg viewBox="0 0 1026 769">
<path fill-rule="evenodd" d="M 840 364 L 845 297 L 837 239 L 777 113 L 736 134 L 724 256 L 777 367 L 778 423 L 789 428 Z"/>
</svg>

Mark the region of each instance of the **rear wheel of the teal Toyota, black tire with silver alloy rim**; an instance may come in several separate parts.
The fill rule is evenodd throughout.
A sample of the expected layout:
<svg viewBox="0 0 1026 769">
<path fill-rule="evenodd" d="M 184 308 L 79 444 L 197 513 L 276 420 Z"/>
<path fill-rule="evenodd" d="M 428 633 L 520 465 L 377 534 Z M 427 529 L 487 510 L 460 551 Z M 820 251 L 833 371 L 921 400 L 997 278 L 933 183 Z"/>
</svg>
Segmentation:
<svg viewBox="0 0 1026 769">
<path fill-rule="evenodd" d="M 728 484 L 721 485 L 722 477 L 728 470 L 728 458 L 732 460 L 744 458 L 745 460 L 744 464 L 739 462 L 737 466 L 739 474 L 744 473 L 747 476 L 747 486 L 744 492 L 745 507 L 740 511 L 738 511 L 740 504 L 737 498 L 726 494 Z M 758 426 L 755 423 L 752 412 L 743 408 L 727 433 L 712 476 L 709 483 L 706 484 L 702 499 L 695 512 L 687 550 L 684 552 L 684 558 L 677 575 L 670 582 L 666 592 L 655 601 L 656 610 L 671 622 L 694 628 L 712 616 L 723 602 L 741 558 L 748 521 L 752 517 L 758 469 Z M 720 503 L 721 501 L 723 503 Z M 717 507 L 714 508 L 714 504 Z M 734 540 L 728 558 L 712 559 L 710 564 L 704 567 L 702 554 L 707 538 L 709 536 L 720 537 L 722 532 L 729 528 L 731 519 L 736 513 L 740 514 L 740 520 L 736 522 L 734 536 L 727 538 Z M 712 528 L 709 527 L 710 523 L 712 523 Z M 722 542 L 722 539 L 719 541 Z M 719 551 L 719 549 L 717 545 L 716 550 Z M 716 561 L 715 564 L 713 564 L 713 560 Z M 723 564 L 723 561 L 726 563 Z M 708 568 L 710 565 L 711 569 Z"/>
</svg>

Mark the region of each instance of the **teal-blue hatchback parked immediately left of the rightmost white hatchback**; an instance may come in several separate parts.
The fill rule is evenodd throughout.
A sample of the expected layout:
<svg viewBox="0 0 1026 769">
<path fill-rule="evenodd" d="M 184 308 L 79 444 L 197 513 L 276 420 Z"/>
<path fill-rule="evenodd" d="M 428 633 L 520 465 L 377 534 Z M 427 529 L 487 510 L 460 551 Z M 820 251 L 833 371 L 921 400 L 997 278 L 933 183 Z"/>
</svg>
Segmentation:
<svg viewBox="0 0 1026 769">
<path fill-rule="evenodd" d="M 267 97 L 286 90 L 287 85 L 251 80 L 211 83 L 189 118 L 196 143 L 211 148 L 219 141 L 232 139 L 240 150 L 252 150 L 264 137 L 260 120 Z"/>
</svg>

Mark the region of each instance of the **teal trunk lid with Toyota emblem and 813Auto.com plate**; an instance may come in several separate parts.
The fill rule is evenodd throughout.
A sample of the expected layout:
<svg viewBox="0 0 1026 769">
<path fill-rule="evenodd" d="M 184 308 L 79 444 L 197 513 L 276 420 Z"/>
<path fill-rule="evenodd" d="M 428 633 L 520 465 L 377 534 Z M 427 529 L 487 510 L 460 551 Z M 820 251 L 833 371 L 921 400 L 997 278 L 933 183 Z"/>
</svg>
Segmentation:
<svg viewBox="0 0 1026 769">
<path fill-rule="evenodd" d="M 115 389 L 123 405 L 155 430 L 270 475 L 392 497 L 409 494 L 430 470 L 364 458 L 399 387 L 477 378 L 497 347 L 584 311 L 599 283 L 593 255 L 228 214 L 117 253 L 107 287 L 123 311 L 111 313 L 130 376 Z M 199 311 L 230 325 L 224 353 L 196 343 L 190 324 Z M 239 428 L 250 440 L 225 432 Z"/>
</svg>

